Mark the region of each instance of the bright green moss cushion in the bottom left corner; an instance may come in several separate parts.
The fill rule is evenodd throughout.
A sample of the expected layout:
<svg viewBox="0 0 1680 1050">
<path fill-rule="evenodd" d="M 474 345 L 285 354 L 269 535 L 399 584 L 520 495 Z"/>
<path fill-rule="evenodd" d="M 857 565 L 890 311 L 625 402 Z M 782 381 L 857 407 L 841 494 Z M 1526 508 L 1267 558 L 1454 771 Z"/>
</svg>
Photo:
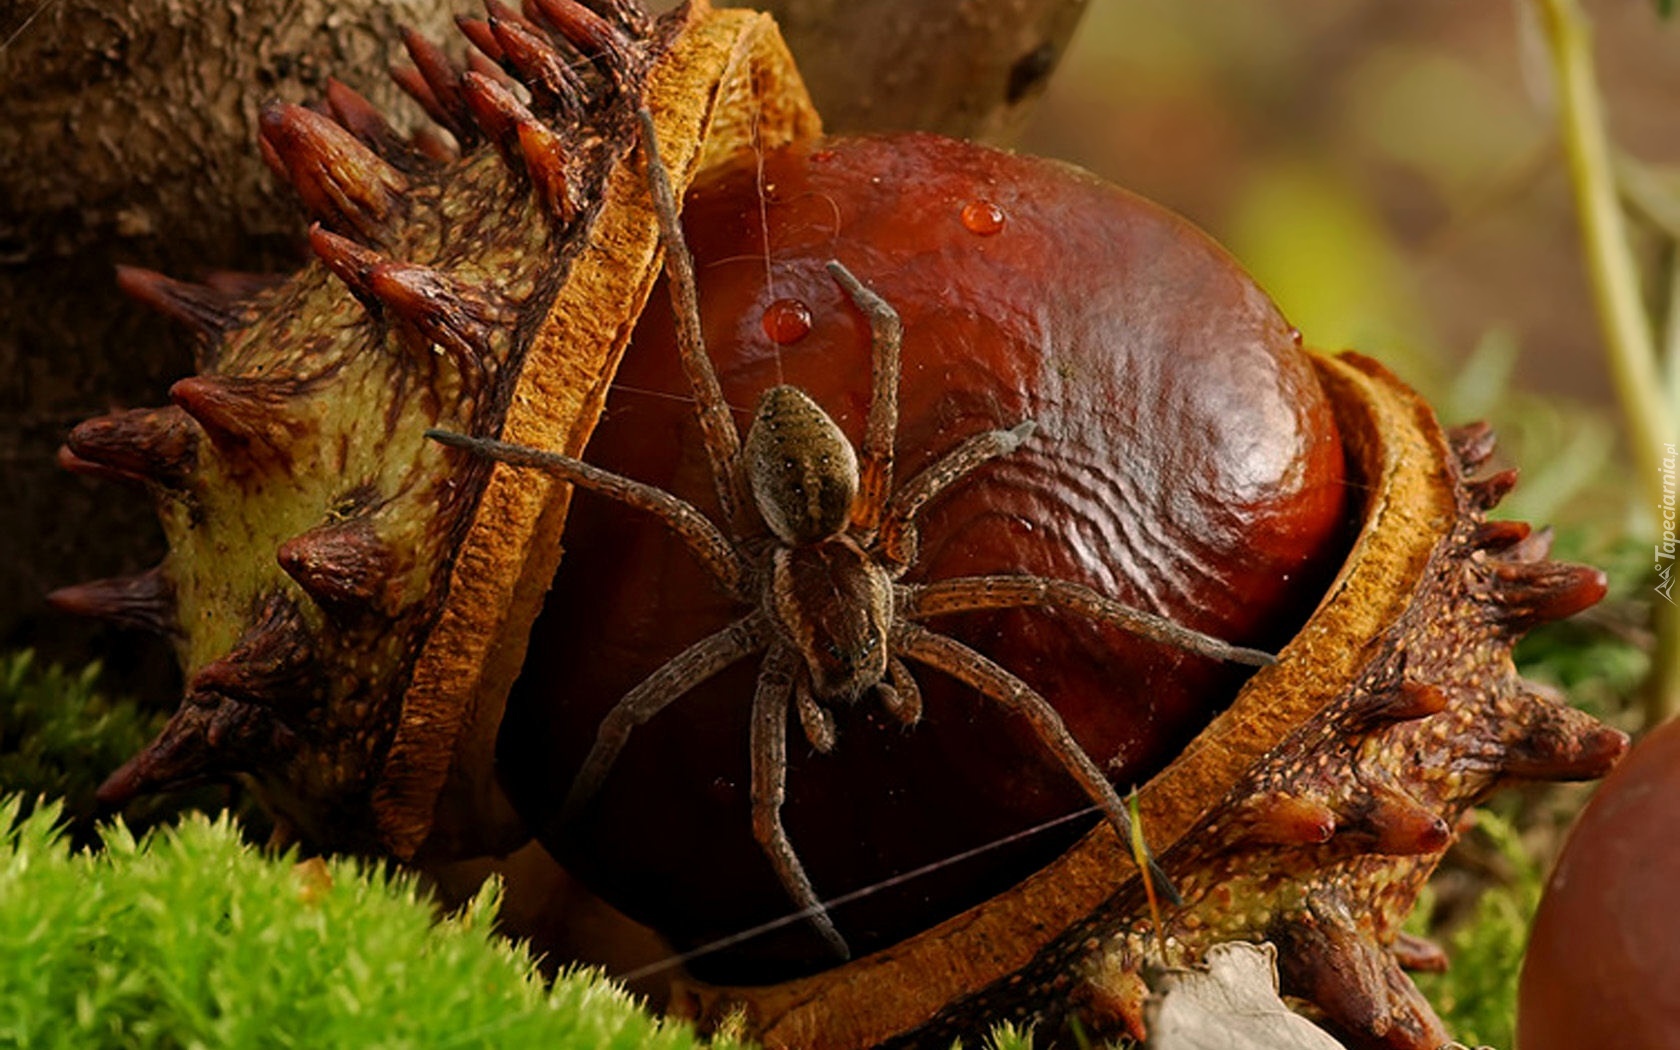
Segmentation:
<svg viewBox="0 0 1680 1050">
<path fill-rule="evenodd" d="M 294 864 L 227 816 L 74 850 L 0 801 L 0 1045 L 696 1047 L 588 973 L 546 986 L 494 939 L 496 890 L 433 919 L 413 879 Z"/>
</svg>

